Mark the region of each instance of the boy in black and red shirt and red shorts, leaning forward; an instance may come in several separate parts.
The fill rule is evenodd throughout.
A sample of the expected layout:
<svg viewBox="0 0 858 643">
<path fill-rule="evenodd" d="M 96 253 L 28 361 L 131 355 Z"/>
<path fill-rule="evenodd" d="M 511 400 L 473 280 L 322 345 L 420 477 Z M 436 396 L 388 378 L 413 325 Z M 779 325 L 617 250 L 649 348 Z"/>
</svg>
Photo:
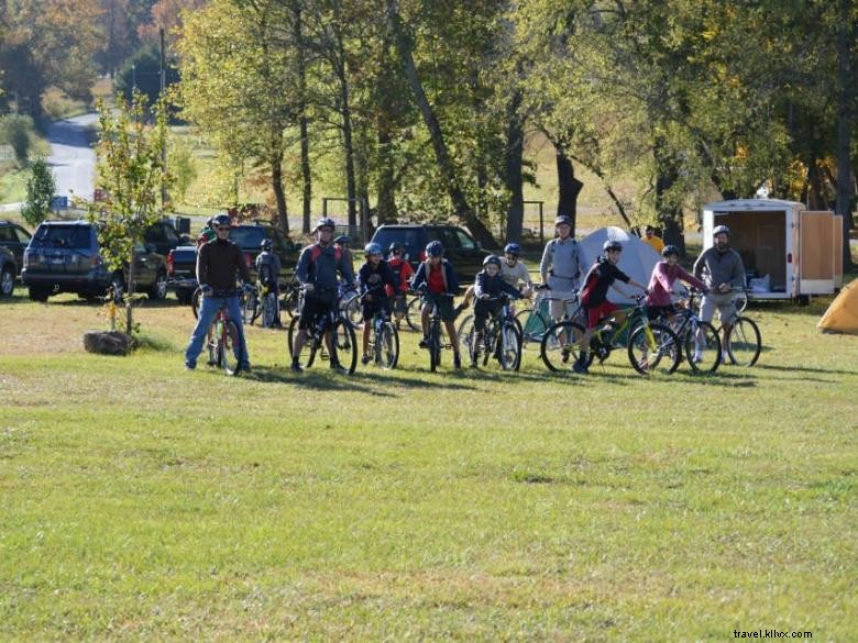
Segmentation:
<svg viewBox="0 0 858 643">
<path fill-rule="evenodd" d="M 584 286 L 581 288 L 581 307 L 587 314 L 587 330 L 581 337 L 581 352 L 579 358 L 573 365 L 575 373 L 587 373 L 587 351 L 590 351 L 590 340 L 593 337 L 593 329 L 600 320 L 613 315 L 617 323 L 623 323 L 626 319 L 625 313 L 619 312 L 616 303 L 608 301 L 607 291 L 613 286 L 622 295 L 627 295 L 615 286 L 618 279 L 625 284 L 637 286 L 644 292 L 647 291 L 644 284 L 635 281 L 617 267 L 619 254 L 623 252 L 623 244 L 618 241 L 606 241 L 602 246 L 603 256 L 596 259 L 593 267 L 590 268 L 584 277 Z"/>
</svg>

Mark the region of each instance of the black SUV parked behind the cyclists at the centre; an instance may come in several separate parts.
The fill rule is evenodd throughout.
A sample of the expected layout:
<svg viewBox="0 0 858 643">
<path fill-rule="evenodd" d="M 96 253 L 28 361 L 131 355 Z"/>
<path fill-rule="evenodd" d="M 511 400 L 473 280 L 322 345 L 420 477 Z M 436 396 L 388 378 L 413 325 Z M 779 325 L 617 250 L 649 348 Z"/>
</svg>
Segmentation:
<svg viewBox="0 0 858 643">
<path fill-rule="evenodd" d="M 372 241 L 381 244 L 385 254 L 393 242 L 400 243 L 415 269 L 426 259 L 426 245 L 430 241 L 440 241 L 444 246 L 444 257 L 455 268 L 455 276 L 465 282 L 474 280 L 483 269 L 483 259 L 490 254 L 466 231 L 441 223 L 382 225 L 373 234 Z"/>
</svg>

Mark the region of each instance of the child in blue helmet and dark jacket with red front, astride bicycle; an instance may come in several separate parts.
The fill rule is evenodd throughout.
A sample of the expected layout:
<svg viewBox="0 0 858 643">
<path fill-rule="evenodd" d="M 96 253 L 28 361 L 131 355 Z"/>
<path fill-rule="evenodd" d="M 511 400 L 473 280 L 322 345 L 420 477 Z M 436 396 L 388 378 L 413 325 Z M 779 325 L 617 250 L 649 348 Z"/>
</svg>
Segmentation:
<svg viewBox="0 0 858 643">
<path fill-rule="evenodd" d="M 453 325 L 455 319 L 453 296 L 459 290 L 459 280 L 455 278 L 452 264 L 443 258 L 443 255 L 444 246 L 440 241 L 429 242 L 426 246 L 427 258 L 417 268 L 411 281 L 411 287 L 421 292 L 424 299 L 424 307 L 420 311 L 424 339 L 420 340 L 420 347 L 429 347 L 429 315 L 432 312 L 432 306 L 437 306 L 450 336 L 450 343 L 453 345 L 453 366 L 461 368 L 462 357 L 459 354 L 459 340 Z"/>
</svg>

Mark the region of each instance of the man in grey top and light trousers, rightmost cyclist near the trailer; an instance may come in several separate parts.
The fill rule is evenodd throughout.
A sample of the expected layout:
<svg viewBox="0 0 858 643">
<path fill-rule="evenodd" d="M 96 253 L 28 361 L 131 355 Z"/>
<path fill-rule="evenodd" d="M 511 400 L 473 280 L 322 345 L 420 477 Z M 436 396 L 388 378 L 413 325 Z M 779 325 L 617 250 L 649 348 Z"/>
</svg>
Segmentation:
<svg viewBox="0 0 858 643">
<path fill-rule="evenodd" d="M 730 247 L 729 235 L 729 228 L 717 225 L 712 231 L 715 244 L 697 257 L 693 269 L 694 276 L 702 279 L 708 288 L 708 292 L 701 300 L 700 318 L 711 322 L 715 317 L 715 309 L 718 309 L 725 358 L 728 357 L 726 345 L 732 325 L 729 320 L 736 314 L 734 290 L 745 288 L 745 265 L 739 253 Z"/>
</svg>

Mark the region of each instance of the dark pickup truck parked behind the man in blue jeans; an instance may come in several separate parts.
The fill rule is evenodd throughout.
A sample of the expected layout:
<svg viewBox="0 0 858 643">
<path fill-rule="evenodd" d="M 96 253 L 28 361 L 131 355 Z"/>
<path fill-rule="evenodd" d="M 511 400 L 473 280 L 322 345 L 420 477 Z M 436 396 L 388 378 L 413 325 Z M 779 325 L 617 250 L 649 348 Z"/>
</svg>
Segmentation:
<svg viewBox="0 0 858 643">
<path fill-rule="evenodd" d="M 230 231 L 230 240 L 244 253 L 244 260 L 254 278 L 256 257 L 263 239 L 272 241 L 272 252 L 280 258 L 280 284 L 287 284 L 298 264 L 301 248 L 299 243 L 293 242 L 277 228 L 265 223 L 234 225 Z M 167 254 L 167 276 L 170 288 L 176 291 L 176 299 L 189 303 L 197 288 L 197 247 L 185 245 L 172 250 Z"/>
</svg>

